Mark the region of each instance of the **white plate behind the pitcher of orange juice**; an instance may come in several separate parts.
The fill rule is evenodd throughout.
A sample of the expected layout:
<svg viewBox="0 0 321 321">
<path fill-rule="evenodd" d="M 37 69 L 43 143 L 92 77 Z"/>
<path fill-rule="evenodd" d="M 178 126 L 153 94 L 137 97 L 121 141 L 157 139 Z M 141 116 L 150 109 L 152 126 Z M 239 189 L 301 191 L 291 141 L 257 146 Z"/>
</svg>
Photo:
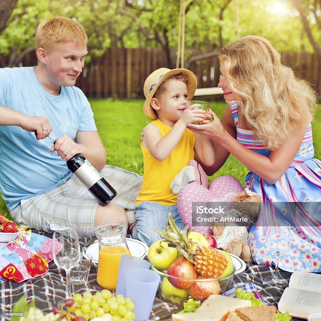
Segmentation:
<svg viewBox="0 0 321 321">
<path fill-rule="evenodd" d="M 147 255 L 149 247 L 138 240 L 126 238 L 127 245 L 132 256 L 137 256 L 143 258 Z M 87 255 L 92 256 L 92 262 L 98 263 L 99 256 L 99 242 L 98 240 L 94 241 L 87 249 L 83 252 L 83 256 Z"/>
</svg>

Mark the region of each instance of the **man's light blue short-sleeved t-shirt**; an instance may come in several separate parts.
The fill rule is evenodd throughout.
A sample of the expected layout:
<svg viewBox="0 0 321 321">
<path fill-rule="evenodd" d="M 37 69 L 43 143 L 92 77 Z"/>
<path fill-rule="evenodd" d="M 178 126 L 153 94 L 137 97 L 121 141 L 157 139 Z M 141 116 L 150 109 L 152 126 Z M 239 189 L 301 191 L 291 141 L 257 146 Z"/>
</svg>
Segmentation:
<svg viewBox="0 0 321 321">
<path fill-rule="evenodd" d="M 97 130 L 90 104 L 77 87 L 61 87 L 58 96 L 45 91 L 34 67 L 0 68 L 0 105 L 30 116 L 47 117 L 52 138 L 75 139 L 78 130 Z M 1 116 L 0 116 L 1 117 Z M 19 126 L 0 126 L 0 191 L 9 209 L 22 199 L 42 194 L 69 178 L 65 160 L 50 152 L 53 141 L 37 141 Z"/>
</svg>

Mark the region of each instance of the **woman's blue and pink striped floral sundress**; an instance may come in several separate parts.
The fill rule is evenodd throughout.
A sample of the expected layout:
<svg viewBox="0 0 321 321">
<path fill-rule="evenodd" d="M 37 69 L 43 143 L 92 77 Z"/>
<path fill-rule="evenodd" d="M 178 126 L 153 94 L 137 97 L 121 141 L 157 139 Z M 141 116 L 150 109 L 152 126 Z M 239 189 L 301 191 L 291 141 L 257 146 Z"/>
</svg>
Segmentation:
<svg viewBox="0 0 321 321">
<path fill-rule="evenodd" d="M 250 130 L 239 128 L 237 102 L 232 102 L 232 117 L 237 140 L 247 148 L 268 156 L 270 151 L 253 137 Z M 279 267 L 293 272 L 321 272 L 321 161 L 314 159 L 312 128 L 308 125 L 300 148 L 289 169 L 275 184 L 268 184 L 253 172 L 245 186 L 259 193 L 263 204 L 256 225 L 249 230 L 248 244 L 257 264 L 275 265 L 275 256 L 266 248 L 266 226 L 271 219 L 291 224 L 291 249 L 280 256 Z M 311 203 L 313 211 L 309 210 Z M 307 209 L 308 208 L 308 209 Z"/>
</svg>

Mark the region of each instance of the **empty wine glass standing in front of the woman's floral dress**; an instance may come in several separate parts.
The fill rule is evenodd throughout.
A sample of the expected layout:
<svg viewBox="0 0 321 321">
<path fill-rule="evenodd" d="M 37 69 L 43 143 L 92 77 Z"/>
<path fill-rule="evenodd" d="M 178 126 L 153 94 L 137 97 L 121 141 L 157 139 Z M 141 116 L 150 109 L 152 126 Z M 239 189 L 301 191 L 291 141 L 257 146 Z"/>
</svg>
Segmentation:
<svg viewBox="0 0 321 321">
<path fill-rule="evenodd" d="M 275 254 L 275 273 L 264 279 L 265 283 L 286 284 L 288 281 L 279 276 L 279 259 L 290 251 L 291 246 L 291 226 L 288 221 L 272 220 L 266 232 L 267 249 Z"/>
</svg>

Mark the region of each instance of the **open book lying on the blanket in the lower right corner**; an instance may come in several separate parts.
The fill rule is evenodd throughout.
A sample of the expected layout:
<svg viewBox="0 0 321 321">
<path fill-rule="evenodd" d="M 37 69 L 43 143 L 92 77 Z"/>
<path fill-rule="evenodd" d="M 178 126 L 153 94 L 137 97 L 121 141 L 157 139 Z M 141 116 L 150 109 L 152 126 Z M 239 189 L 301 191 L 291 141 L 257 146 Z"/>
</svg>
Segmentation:
<svg viewBox="0 0 321 321">
<path fill-rule="evenodd" d="M 280 312 L 289 311 L 292 317 L 307 319 L 321 311 L 321 274 L 293 272 L 289 287 L 285 288 L 278 303 Z"/>
</svg>

